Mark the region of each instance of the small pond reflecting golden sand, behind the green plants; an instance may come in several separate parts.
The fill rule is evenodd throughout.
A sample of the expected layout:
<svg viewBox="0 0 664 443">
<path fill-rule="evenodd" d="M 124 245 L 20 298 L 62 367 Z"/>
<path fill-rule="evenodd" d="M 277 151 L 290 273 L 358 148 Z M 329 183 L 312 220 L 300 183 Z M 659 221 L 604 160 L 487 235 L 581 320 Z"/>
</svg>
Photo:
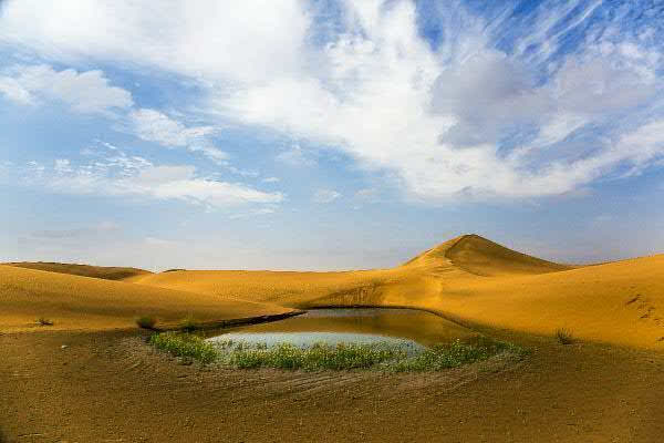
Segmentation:
<svg viewBox="0 0 664 443">
<path fill-rule="evenodd" d="M 286 320 L 228 329 L 208 340 L 266 343 L 268 347 L 291 343 L 303 348 L 320 342 L 332 346 L 387 342 L 416 351 L 475 336 L 467 328 L 415 309 L 334 308 L 312 309 Z"/>
</svg>

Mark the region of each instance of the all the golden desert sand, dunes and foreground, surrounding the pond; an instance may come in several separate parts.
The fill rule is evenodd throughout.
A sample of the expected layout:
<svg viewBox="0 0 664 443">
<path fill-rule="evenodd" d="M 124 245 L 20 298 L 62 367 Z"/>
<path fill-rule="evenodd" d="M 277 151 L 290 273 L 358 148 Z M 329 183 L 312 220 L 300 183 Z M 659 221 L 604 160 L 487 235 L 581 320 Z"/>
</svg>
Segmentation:
<svg viewBox="0 0 664 443">
<path fill-rule="evenodd" d="M 658 442 L 664 255 L 568 266 L 461 236 L 393 269 L 139 274 L 0 266 L 0 442 Z M 531 350 L 428 374 L 181 365 L 134 324 L 426 309 Z M 52 327 L 35 323 L 39 317 Z M 552 337 L 567 328 L 577 339 Z M 64 346 L 64 348 L 63 348 Z"/>
</svg>

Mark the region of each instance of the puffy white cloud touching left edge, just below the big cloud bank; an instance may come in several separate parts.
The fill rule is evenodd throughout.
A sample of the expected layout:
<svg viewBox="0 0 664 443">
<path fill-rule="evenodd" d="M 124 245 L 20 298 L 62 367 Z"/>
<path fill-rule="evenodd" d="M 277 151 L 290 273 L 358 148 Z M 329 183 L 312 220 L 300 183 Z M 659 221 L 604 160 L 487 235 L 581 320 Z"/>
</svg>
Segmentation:
<svg viewBox="0 0 664 443">
<path fill-rule="evenodd" d="M 98 70 L 55 71 L 49 65 L 15 65 L 0 75 L 0 93 L 19 104 L 54 100 L 80 113 L 106 113 L 132 106 L 132 94 L 108 84 Z"/>
</svg>

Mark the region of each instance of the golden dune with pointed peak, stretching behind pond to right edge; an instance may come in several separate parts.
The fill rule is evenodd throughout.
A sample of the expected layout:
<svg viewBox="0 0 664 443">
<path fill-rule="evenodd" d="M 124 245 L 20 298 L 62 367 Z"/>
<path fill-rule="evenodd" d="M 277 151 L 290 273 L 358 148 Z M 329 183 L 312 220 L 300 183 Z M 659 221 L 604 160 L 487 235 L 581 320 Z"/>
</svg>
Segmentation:
<svg viewBox="0 0 664 443">
<path fill-rule="evenodd" d="M 479 236 L 446 241 L 404 266 L 349 272 L 174 271 L 141 285 L 287 307 L 403 306 L 538 334 L 664 350 L 664 255 L 571 267 Z"/>
</svg>

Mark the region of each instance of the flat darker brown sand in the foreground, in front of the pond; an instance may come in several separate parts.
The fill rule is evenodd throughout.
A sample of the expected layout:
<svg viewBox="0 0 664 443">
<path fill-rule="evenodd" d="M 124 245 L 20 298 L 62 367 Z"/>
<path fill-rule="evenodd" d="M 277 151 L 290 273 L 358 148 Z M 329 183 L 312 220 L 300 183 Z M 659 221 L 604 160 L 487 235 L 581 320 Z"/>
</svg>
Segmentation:
<svg viewBox="0 0 664 443">
<path fill-rule="evenodd" d="M 662 441 L 664 356 L 507 339 L 532 356 L 381 374 L 181 365 L 135 332 L 0 334 L 0 430 L 21 443 Z"/>
</svg>

